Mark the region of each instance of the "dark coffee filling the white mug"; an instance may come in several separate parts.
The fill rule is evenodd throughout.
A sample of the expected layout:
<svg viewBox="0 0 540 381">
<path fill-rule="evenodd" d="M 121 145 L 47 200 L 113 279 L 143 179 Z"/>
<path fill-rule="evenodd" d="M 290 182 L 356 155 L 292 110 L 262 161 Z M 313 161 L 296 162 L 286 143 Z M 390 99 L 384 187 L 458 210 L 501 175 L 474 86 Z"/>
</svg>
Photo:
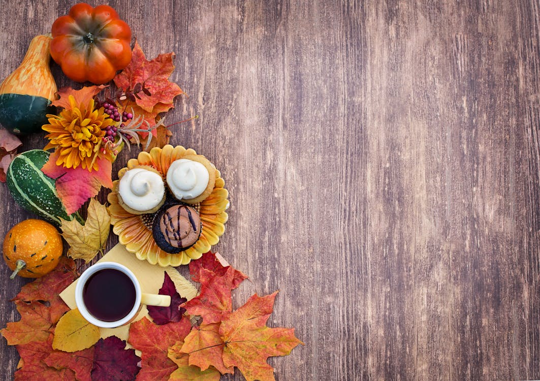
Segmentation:
<svg viewBox="0 0 540 381">
<path fill-rule="evenodd" d="M 116 322 L 127 316 L 135 305 L 135 285 L 120 270 L 98 270 L 84 285 L 83 302 L 96 319 Z"/>
</svg>

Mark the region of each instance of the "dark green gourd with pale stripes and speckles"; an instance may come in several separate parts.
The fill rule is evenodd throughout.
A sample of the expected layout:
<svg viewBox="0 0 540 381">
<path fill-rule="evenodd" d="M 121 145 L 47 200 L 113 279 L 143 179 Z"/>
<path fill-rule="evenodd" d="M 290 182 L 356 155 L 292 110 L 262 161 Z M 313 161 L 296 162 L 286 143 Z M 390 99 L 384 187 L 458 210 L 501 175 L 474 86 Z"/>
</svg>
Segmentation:
<svg viewBox="0 0 540 381">
<path fill-rule="evenodd" d="M 68 215 L 58 198 L 55 180 L 41 172 L 49 160 L 50 153 L 42 149 L 23 152 L 13 159 L 6 174 L 11 196 L 24 209 L 60 225 L 60 218 L 71 221 L 76 218 L 83 222 L 79 214 Z"/>
</svg>

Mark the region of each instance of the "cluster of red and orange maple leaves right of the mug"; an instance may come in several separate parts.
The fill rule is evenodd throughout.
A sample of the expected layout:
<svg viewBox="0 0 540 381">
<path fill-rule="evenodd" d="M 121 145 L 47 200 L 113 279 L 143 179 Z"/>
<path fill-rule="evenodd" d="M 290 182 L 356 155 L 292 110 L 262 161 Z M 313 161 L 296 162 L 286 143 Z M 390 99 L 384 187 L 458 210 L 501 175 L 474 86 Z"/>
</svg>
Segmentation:
<svg viewBox="0 0 540 381">
<path fill-rule="evenodd" d="M 233 311 L 231 291 L 246 279 L 244 274 L 222 266 L 210 252 L 190 263 L 190 274 L 200 283 L 200 294 L 181 308 L 200 316 L 201 323 L 192 326 L 180 310 L 168 321 L 161 318 L 161 324 L 146 318 L 131 324 L 128 341 L 142 353 L 137 380 L 217 381 L 235 367 L 248 381 L 274 380 L 266 359 L 288 355 L 301 343 L 293 329 L 266 326 L 277 292 L 255 294 Z M 160 293 L 171 295 L 164 289 Z"/>
</svg>

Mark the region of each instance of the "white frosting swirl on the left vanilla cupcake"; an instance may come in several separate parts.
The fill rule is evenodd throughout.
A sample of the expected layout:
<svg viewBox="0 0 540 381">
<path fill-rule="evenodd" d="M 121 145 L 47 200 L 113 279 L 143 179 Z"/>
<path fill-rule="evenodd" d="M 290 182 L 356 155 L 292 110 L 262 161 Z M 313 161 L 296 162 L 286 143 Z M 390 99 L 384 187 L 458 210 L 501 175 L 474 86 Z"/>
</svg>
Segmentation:
<svg viewBox="0 0 540 381">
<path fill-rule="evenodd" d="M 159 174 L 144 168 L 133 168 L 120 179 L 118 194 L 127 206 L 144 212 L 163 201 L 165 185 Z"/>
</svg>

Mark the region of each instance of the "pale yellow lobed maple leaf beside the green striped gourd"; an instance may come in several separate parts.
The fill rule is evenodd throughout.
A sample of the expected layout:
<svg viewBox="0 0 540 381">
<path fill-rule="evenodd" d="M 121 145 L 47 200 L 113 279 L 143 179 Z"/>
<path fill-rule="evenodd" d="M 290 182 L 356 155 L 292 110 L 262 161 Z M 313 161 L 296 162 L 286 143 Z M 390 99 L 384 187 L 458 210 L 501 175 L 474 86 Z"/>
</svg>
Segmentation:
<svg viewBox="0 0 540 381">
<path fill-rule="evenodd" d="M 91 199 L 84 226 L 76 220 L 60 220 L 62 236 L 70 246 L 68 256 L 82 258 L 88 263 L 98 252 L 103 251 L 111 226 L 111 216 L 105 205 Z"/>
</svg>

